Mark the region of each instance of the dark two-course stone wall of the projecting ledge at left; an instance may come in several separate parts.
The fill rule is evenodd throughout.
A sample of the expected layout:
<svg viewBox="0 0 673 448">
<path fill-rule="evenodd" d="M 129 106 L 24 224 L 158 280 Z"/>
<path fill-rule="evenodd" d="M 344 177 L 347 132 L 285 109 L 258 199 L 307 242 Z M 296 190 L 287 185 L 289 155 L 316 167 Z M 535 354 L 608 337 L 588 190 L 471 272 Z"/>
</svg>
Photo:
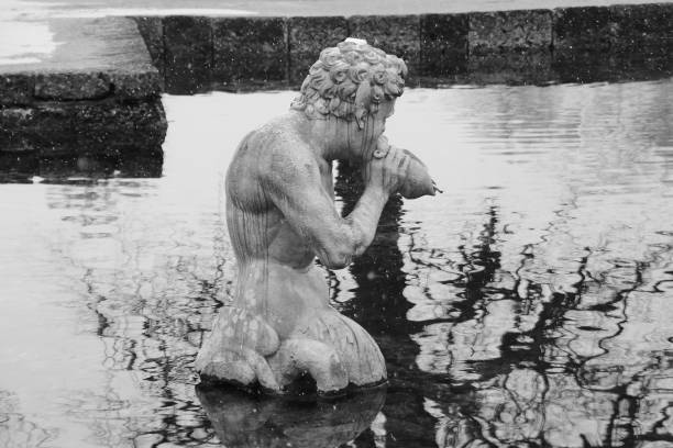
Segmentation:
<svg viewBox="0 0 673 448">
<path fill-rule="evenodd" d="M 0 152 L 161 152 L 158 72 L 0 74 Z"/>
</svg>

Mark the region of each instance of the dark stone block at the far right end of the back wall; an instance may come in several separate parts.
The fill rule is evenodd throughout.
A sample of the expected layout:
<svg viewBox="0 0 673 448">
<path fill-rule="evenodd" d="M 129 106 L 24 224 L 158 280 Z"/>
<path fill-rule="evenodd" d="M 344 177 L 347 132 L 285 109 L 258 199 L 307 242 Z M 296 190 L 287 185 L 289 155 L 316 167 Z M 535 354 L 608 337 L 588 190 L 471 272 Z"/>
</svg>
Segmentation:
<svg viewBox="0 0 673 448">
<path fill-rule="evenodd" d="M 609 10 L 615 48 L 673 48 L 672 3 L 616 5 Z"/>
</svg>

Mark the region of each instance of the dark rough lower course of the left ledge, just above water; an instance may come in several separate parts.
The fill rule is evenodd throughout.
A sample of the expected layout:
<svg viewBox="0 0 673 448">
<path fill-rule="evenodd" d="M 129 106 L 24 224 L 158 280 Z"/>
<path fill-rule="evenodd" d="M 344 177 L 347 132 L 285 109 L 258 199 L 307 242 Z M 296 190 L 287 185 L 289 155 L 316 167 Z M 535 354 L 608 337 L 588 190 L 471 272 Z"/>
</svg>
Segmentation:
<svg viewBox="0 0 673 448">
<path fill-rule="evenodd" d="M 0 109 L 0 152 L 117 154 L 161 150 L 166 119 L 161 101 L 44 102 Z"/>
</svg>

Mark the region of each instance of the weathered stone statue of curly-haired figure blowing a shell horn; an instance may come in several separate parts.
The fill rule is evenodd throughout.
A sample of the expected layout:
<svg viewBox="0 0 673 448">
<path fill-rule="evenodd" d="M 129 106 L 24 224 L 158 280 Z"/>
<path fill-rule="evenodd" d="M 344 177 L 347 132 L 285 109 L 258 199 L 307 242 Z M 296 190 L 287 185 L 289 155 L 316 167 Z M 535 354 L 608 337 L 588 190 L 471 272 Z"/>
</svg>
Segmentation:
<svg viewBox="0 0 673 448">
<path fill-rule="evenodd" d="M 374 339 L 329 305 L 324 272 L 372 243 L 397 192 L 434 194 L 426 167 L 388 145 L 386 119 L 407 67 L 365 41 L 326 48 L 290 111 L 241 142 L 227 173 L 227 224 L 238 284 L 196 360 L 203 381 L 319 393 L 386 381 Z M 332 161 L 360 165 L 364 191 L 346 217 L 334 206 Z"/>
</svg>

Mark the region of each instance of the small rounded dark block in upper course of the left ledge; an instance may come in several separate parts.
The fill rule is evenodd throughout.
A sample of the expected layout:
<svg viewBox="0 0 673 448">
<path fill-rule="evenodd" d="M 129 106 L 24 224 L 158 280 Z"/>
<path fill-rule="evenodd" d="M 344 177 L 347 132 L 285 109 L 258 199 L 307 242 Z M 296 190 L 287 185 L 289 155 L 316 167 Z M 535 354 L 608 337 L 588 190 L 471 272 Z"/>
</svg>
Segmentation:
<svg viewBox="0 0 673 448">
<path fill-rule="evenodd" d="M 34 97 L 38 100 L 99 100 L 108 97 L 111 90 L 107 77 L 96 71 L 35 75 Z"/>
</svg>

